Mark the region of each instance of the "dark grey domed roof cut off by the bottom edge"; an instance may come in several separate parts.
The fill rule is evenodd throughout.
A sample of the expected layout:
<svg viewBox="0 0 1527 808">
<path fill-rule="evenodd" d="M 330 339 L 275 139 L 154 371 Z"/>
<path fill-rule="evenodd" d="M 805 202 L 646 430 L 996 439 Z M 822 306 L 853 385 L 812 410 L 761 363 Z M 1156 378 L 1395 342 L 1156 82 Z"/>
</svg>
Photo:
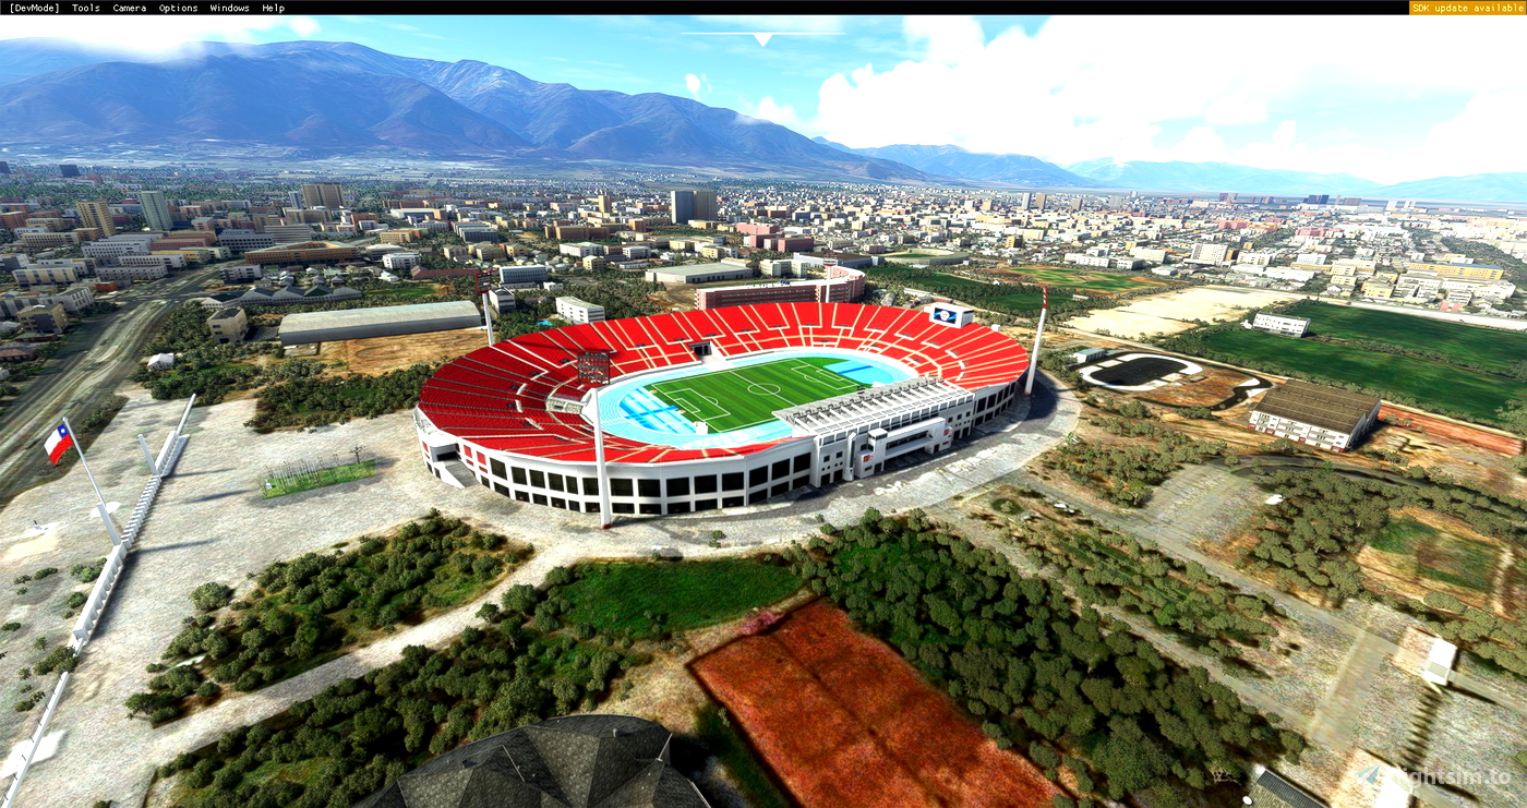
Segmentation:
<svg viewBox="0 0 1527 808">
<path fill-rule="evenodd" d="M 354 808 L 709 808 L 669 765 L 673 733 L 628 715 L 570 715 L 484 738 Z"/>
</svg>

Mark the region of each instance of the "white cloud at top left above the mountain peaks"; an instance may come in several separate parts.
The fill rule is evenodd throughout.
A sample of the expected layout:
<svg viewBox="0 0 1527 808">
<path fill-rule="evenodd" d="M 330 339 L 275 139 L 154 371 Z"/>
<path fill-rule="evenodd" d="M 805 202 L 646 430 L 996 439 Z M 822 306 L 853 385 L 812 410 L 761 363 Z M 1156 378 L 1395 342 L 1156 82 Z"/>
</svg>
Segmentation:
<svg viewBox="0 0 1527 808">
<path fill-rule="evenodd" d="M 312 17 L 72 17 L 67 38 L 87 47 L 174 53 L 202 41 L 252 43 L 257 32 L 289 31 L 305 40 L 321 27 Z M 58 20 L 50 17 L 12 15 L 0 26 L 0 40 L 58 35 Z"/>
</svg>

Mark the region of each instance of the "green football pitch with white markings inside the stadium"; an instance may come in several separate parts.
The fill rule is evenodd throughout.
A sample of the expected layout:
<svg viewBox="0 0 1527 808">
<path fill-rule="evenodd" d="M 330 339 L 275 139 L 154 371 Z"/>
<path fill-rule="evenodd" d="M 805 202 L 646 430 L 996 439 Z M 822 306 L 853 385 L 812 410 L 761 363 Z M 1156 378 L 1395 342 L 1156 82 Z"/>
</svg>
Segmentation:
<svg viewBox="0 0 1527 808">
<path fill-rule="evenodd" d="M 843 359 L 780 359 L 658 382 L 647 388 L 663 403 L 678 408 L 710 432 L 747 429 L 774 420 L 774 411 L 864 389 L 847 376 L 826 368 Z"/>
</svg>

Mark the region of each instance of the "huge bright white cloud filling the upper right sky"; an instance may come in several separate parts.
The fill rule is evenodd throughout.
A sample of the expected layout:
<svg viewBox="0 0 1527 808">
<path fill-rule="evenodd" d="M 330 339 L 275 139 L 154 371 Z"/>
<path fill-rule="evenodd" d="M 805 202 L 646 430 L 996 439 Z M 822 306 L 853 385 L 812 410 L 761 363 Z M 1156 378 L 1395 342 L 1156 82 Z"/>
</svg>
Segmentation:
<svg viewBox="0 0 1527 808">
<path fill-rule="evenodd" d="M 1527 122 L 1521 29 L 1489 17 L 1054 17 L 991 38 L 971 18 L 909 17 L 902 34 L 915 61 L 828 78 L 803 128 L 1063 163 L 1223 160 L 1379 182 L 1527 171 L 1509 136 Z"/>
</svg>

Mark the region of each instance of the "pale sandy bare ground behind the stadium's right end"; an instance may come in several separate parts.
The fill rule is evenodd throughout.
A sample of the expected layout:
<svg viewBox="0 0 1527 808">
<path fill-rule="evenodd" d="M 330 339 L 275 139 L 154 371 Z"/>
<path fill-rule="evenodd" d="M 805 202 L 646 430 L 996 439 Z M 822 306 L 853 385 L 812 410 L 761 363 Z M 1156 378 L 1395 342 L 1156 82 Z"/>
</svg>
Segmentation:
<svg viewBox="0 0 1527 808">
<path fill-rule="evenodd" d="M 1251 309 L 1299 299 L 1303 295 L 1269 292 L 1266 289 L 1229 289 L 1194 286 L 1162 295 L 1132 299 L 1118 309 L 1099 309 L 1066 321 L 1067 328 L 1107 333 L 1124 339 L 1177 335 L 1193 328 L 1194 321 L 1223 322 L 1237 319 Z"/>
</svg>

